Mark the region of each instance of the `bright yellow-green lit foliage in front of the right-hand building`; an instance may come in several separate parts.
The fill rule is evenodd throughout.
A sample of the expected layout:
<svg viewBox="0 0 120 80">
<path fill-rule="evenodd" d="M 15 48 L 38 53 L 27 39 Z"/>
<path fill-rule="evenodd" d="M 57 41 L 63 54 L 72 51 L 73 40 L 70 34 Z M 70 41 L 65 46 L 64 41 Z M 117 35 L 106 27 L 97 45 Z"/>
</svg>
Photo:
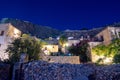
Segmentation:
<svg viewBox="0 0 120 80">
<path fill-rule="evenodd" d="M 98 45 L 92 49 L 92 54 L 95 54 L 97 56 L 104 56 L 103 61 L 106 58 L 113 58 L 113 62 L 120 62 L 118 58 L 120 58 L 120 39 L 115 39 L 112 41 L 109 45 Z M 118 60 L 118 61 L 117 61 Z"/>
</svg>

